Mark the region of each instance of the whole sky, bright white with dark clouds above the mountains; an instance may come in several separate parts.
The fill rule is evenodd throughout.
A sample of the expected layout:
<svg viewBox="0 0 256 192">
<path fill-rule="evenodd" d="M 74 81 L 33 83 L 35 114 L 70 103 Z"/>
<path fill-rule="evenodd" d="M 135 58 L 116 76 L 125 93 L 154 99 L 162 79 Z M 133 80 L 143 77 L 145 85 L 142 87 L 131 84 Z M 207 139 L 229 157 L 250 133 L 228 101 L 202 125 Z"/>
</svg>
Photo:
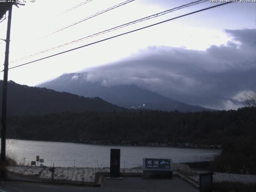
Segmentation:
<svg viewBox="0 0 256 192">
<path fill-rule="evenodd" d="M 191 0 L 135 0 L 47 36 L 124 1 L 35 0 L 13 7 L 9 67 L 174 18 L 218 3 L 209 1 L 126 26 L 62 48 L 82 37 L 169 10 Z M 214 109 L 237 109 L 255 90 L 256 3 L 230 3 L 170 22 L 9 70 L 9 80 L 35 86 L 63 73 L 86 72 L 104 86 L 136 84 L 164 96 Z M 7 19 L 0 23 L 6 38 Z M 5 43 L 0 42 L 4 63 Z M 18 60 L 16 62 L 12 62 Z M 0 70 L 3 69 L 1 64 Z M 3 73 L 0 74 L 2 79 Z"/>
</svg>

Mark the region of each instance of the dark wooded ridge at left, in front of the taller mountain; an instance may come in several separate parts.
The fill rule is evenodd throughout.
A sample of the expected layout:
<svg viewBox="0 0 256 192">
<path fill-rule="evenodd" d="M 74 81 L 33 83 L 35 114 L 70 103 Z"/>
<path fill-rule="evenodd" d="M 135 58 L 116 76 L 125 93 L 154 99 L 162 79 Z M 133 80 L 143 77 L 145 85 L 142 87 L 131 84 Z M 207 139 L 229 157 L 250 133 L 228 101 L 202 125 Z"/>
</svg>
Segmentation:
<svg viewBox="0 0 256 192">
<path fill-rule="evenodd" d="M 0 81 L 0 101 L 2 101 L 3 81 Z M 57 112 L 120 112 L 126 109 L 110 104 L 99 97 L 85 98 L 47 88 L 30 87 L 8 82 L 8 115 L 37 115 Z M 2 102 L 0 103 L 2 107 Z"/>
</svg>

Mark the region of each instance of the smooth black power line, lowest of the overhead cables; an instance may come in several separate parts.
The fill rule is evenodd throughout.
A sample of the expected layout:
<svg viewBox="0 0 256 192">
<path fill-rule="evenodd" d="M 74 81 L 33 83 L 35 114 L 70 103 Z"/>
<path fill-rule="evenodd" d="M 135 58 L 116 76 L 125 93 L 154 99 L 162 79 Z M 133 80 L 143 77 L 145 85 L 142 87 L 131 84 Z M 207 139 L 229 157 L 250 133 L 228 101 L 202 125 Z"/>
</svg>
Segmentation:
<svg viewBox="0 0 256 192">
<path fill-rule="evenodd" d="M 116 35 L 116 36 L 112 36 L 112 37 L 109 37 L 109 38 L 106 38 L 106 39 L 102 39 L 102 40 L 99 40 L 99 41 L 96 41 L 96 42 L 92 42 L 92 43 L 89 43 L 89 44 L 86 44 L 86 45 L 83 45 L 83 46 L 80 46 L 80 47 L 77 47 L 77 48 L 73 48 L 73 49 L 70 49 L 70 50 L 67 50 L 67 51 L 64 51 L 64 52 L 60 52 L 60 53 L 57 53 L 57 54 L 53 54 L 53 55 L 50 55 L 50 56 L 47 56 L 47 57 L 44 57 L 44 58 L 40 58 L 40 59 L 31 61 L 31 62 L 27 62 L 27 63 L 21 64 L 21 65 L 14 66 L 14 67 L 12 67 L 12 68 L 8 68 L 8 69 L 13 69 L 13 68 L 17 68 L 17 67 L 20 67 L 20 66 L 24 66 L 24 65 L 27 65 L 27 64 L 36 62 L 36 61 L 40 61 L 40 60 L 44 60 L 44 59 L 46 59 L 46 58 L 50 58 L 50 57 L 53 57 L 53 56 L 57 56 L 57 55 L 60 55 L 60 54 L 64 54 L 64 53 L 66 53 L 66 52 L 70 52 L 70 51 L 73 51 L 73 50 L 76 50 L 76 49 L 80 49 L 80 48 L 83 48 L 83 47 L 86 47 L 86 46 L 90 46 L 90 45 L 93 45 L 93 44 L 96 44 L 96 43 L 99 43 L 99 42 L 103 42 L 103 41 L 106 41 L 106 40 L 110 40 L 110 39 L 112 39 L 112 38 L 116 38 L 116 37 L 119 37 L 119 36 L 123 36 L 123 35 L 129 34 L 129 33 L 132 33 L 132 32 L 136 32 L 136 31 L 139 31 L 139 30 L 142 30 L 142 29 L 146 29 L 146 28 L 149 28 L 149 27 L 152 27 L 152 26 L 156 26 L 156 25 L 158 25 L 158 24 L 162 24 L 162 23 L 165 23 L 165 22 L 174 20 L 174 19 L 178 19 L 178 18 L 181 18 L 181 17 L 184 17 L 184 16 L 188 16 L 188 15 L 191 15 L 191 14 L 195 14 L 195 13 L 198 13 L 198 12 L 202 12 L 202 11 L 205 11 L 205 10 L 208 10 L 208 9 L 216 8 L 216 7 L 218 7 L 218 6 L 226 5 L 226 4 L 229 4 L 229 3 L 232 3 L 232 2 L 226 2 L 226 3 L 218 4 L 218 5 L 215 5 L 215 6 L 210 6 L 210 7 L 208 7 L 208 8 L 204 8 L 204 9 L 201 9 L 201 10 L 197 10 L 197 11 L 194 11 L 194 12 L 190 12 L 190 13 L 188 13 L 188 14 L 184 14 L 184 15 L 181 15 L 181 16 L 177 16 L 177 17 L 174 17 L 174 18 L 171 18 L 171 19 L 168 19 L 168 20 L 164 20 L 164 21 L 162 21 L 162 22 L 158 22 L 158 23 L 155 23 L 155 24 L 152 24 L 152 25 L 148 25 L 148 26 L 145 26 L 145 27 L 142 27 L 142 28 L 138 28 L 138 29 L 136 29 L 136 30 L 132 30 L 132 31 L 129 31 L 129 32 L 125 32 L 125 33 L 122 33 L 122 34 L 119 34 L 119 35 Z M 3 72 L 3 71 L 1 71 L 1 72 Z"/>
</svg>

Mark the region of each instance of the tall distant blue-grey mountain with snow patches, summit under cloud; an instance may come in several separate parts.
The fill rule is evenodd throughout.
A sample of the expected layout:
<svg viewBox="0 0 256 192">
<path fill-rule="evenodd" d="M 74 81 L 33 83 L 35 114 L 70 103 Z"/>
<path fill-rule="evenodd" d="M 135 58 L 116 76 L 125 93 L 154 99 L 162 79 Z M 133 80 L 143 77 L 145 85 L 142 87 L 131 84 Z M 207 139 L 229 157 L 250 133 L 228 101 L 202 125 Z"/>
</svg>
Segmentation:
<svg viewBox="0 0 256 192">
<path fill-rule="evenodd" d="M 112 104 L 129 109 L 145 108 L 164 111 L 178 110 L 180 112 L 211 110 L 178 102 L 135 85 L 103 86 L 100 82 L 90 82 L 86 78 L 86 73 L 63 74 L 37 86 L 80 96 L 97 96 Z"/>
</svg>

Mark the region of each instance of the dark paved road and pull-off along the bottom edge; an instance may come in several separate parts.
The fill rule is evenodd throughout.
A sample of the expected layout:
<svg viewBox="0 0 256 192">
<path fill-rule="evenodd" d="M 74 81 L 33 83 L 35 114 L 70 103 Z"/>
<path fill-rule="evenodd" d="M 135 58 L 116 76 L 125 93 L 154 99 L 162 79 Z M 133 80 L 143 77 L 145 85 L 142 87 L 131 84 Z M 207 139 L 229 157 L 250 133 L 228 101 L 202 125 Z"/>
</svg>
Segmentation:
<svg viewBox="0 0 256 192">
<path fill-rule="evenodd" d="M 0 183 L 0 192 L 198 192 L 190 184 L 174 177 L 171 180 L 142 180 L 125 177 L 123 180 L 103 178 L 102 187 L 42 184 L 18 181 Z"/>
</svg>

